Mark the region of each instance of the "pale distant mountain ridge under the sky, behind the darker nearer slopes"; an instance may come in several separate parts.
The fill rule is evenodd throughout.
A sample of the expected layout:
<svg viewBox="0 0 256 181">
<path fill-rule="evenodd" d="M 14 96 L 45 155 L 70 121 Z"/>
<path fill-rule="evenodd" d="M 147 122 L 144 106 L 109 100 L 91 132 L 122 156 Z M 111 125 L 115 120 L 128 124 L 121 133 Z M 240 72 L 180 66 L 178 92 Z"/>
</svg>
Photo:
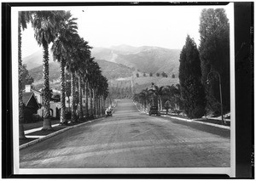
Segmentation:
<svg viewBox="0 0 256 181">
<path fill-rule="evenodd" d="M 129 45 L 113 46 L 111 48 L 93 48 L 92 56 L 114 63 L 126 65 L 141 72 L 161 73 L 168 76 L 178 75 L 179 49 L 159 47 L 131 47 Z"/>
</svg>

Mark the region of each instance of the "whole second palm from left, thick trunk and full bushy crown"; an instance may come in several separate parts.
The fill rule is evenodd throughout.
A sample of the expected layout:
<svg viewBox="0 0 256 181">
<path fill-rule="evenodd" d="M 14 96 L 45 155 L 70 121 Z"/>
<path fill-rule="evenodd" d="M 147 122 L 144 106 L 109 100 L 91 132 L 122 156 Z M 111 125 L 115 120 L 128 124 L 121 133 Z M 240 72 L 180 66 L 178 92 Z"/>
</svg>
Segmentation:
<svg viewBox="0 0 256 181">
<path fill-rule="evenodd" d="M 64 21 L 65 11 L 37 11 L 33 15 L 32 27 L 39 46 L 43 46 L 43 96 L 44 96 L 44 125 L 43 130 L 51 129 L 49 113 L 49 43 L 54 42 L 61 23 Z"/>
</svg>

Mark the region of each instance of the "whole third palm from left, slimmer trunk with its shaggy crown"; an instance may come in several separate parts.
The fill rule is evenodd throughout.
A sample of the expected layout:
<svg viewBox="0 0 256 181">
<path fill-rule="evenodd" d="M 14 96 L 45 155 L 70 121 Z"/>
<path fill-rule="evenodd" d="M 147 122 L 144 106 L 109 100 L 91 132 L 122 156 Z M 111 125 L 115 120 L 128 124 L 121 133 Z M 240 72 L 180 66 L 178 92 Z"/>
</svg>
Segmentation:
<svg viewBox="0 0 256 181">
<path fill-rule="evenodd" d="M 59 36 L 55 39 L 51 50 L 53 51 L 54 60 L 61 63 L 61 119 L 60 124 L 67 124 L 66 114 L 66 95 L 65 95 L 65 67 L 67 59 L 70 59 L 72 51 L 72 39 L 77 33 L 77 23 L 69 11 L 65 14 L 65 21 L 59 31 Z"/>
</svg>

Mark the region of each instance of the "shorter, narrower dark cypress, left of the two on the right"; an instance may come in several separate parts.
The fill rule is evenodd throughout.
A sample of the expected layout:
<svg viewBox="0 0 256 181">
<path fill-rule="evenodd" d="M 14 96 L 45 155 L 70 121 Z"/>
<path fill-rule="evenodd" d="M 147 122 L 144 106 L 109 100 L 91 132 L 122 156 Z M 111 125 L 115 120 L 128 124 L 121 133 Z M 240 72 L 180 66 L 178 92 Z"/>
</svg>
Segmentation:
<svg viewBox="0 0 256 181">
<path fill-rule="evenodd" d="M 179 61 L 179 82 L 185 113 L 189 118 L 201 118 L 206 108 L 206 95 L 201 83 L 201 60 L 195 41 L 189 36 Z"/>
</svg>

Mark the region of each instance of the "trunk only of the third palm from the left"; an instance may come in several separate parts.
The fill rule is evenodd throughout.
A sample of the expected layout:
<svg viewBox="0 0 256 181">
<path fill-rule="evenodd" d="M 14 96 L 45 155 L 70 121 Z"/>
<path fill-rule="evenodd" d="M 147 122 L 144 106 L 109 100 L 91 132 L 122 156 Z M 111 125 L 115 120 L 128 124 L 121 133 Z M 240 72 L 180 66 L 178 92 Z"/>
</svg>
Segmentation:
<svg viewBox="0 0 256 181">
<path fill-rule="evenodd" d="M 65 96 L 65 61 L 61 59 L 61 119 L 60 124 L 66 123 L 66 96 Z"/>
</svg>

